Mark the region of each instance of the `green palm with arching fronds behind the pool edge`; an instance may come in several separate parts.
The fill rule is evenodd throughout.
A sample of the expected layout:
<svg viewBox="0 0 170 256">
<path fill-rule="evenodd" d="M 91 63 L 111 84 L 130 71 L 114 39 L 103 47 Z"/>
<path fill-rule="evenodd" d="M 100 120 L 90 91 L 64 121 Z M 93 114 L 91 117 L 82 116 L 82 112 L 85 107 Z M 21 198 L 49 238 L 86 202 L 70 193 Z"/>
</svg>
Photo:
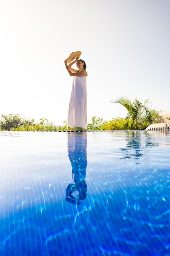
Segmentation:
<svg viewBox="0 0 170 256">
<path fill-rule="evenodd" d="M 122 130 L 144 130 L 150 124 L 158 122 L 160 111 L 150 108 L 151 102 L 149 99 L 141 103 L 137 99 L 130 101 L 127 97 L 120 97 L 113 99 L 111 102 L 119 103 L 128 110 L 125 118 L 117 117 L 113 119 L 117 130 L 120 130 L 120 121 L 124 127 Z"/>
</svg>

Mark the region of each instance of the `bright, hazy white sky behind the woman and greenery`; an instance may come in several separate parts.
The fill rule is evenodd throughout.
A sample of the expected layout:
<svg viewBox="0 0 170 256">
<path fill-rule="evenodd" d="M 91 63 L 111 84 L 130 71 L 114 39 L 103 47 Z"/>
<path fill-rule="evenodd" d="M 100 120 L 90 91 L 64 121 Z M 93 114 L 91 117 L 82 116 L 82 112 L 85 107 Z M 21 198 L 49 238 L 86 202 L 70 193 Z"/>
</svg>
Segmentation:
<svg viewBox="0 0 170 256">
<path fill-rule="evenodd" d="M 122 96 L 170 111 L 170 0 L 0 0 L 0 113 L 62 124 L 76 51 L 88 122 L 125 117 Z"/>
</svg>

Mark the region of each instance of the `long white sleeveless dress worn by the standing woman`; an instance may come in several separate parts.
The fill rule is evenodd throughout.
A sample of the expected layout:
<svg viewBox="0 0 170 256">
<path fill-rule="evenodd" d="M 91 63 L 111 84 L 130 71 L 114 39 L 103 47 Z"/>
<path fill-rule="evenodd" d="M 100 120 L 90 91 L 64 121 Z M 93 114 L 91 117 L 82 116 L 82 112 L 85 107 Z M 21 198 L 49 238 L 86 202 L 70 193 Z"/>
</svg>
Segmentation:
<svg viewBox="0 0 170 256">
<path fill-rule="evenodd" d="M 68 108 L 67 130 L 87 130 L 86 76 L 75 76 Z"/>
</svg>

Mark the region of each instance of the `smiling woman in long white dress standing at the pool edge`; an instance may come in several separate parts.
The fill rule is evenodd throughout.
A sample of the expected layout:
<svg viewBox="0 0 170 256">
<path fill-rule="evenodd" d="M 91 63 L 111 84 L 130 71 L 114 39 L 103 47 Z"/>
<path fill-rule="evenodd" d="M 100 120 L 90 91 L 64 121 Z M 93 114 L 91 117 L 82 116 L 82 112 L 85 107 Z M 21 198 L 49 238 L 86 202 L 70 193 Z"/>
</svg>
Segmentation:
<svg viewBox="0 0 170 256">
<path fill-rule="evenodd" d="M 68 65 L 67 60 L 64 63 L 69 75 L 74 76 L 68 108 L 67 130 L 85 131 L 87 130 L 86 63 L 79 60 L 79 56 Z M 71 67 L 74 63 L 78 70 Z"/>
</svg>

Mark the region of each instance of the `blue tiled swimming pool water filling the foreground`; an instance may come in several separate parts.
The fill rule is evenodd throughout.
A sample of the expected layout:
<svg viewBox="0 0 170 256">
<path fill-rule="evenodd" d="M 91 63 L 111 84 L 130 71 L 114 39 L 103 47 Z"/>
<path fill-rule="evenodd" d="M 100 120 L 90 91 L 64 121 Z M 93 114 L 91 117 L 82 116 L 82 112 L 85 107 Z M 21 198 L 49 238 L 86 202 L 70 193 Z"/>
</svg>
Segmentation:
<svg viewBox="0 0 170 256">
<path fill-rule="evenodd" d="M 0 256 L 29 255 L 170 255 L 170 131 L 0 132 Z"/>
</svg>

